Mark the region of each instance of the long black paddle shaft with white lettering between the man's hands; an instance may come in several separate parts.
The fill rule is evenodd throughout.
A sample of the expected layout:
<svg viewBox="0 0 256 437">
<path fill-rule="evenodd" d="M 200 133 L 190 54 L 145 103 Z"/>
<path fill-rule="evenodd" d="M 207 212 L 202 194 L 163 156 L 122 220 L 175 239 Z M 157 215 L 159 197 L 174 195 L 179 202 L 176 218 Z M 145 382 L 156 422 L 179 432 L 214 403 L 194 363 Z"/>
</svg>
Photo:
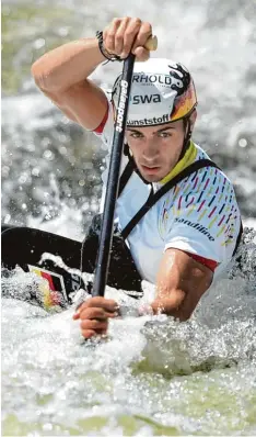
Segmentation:
<svg viewBox="0 0 256 437">
<path fill-rule="evenodd" d="M 114 127 L 114 138 L 110 154 L 110 164 L 107 179 L 106 197 L 103 212 L 101 237 L 97 253 L 96 270 L 94 276 L 93 292 L 94 296 L 104 296 L 107 282 L 109 255 L 112 248 L 114 214 L 116 206 L 117 192 L 119 187 L 119 172 L 124 150 L 124 138 L 126 120 L 129 105 L 130 87 L 135 56 L 129 55 L 124 61 L 116 121 Z"/>
</svg>

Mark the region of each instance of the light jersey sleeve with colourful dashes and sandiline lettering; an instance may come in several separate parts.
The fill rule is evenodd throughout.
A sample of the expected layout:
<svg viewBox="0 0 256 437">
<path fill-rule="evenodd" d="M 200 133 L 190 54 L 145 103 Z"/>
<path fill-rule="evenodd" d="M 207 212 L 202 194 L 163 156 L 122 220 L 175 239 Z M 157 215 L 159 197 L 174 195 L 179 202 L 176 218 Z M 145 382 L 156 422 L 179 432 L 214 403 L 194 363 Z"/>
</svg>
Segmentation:
<svg viewBox="0 0 256 437">
<path fill-rule="evenodd" d="M 240 232 L 234 189 L 218 169 L 203 168 L 174 190 L 165 250 L 177 248 L 216 261 L 232 258 Z"/>
</svg>

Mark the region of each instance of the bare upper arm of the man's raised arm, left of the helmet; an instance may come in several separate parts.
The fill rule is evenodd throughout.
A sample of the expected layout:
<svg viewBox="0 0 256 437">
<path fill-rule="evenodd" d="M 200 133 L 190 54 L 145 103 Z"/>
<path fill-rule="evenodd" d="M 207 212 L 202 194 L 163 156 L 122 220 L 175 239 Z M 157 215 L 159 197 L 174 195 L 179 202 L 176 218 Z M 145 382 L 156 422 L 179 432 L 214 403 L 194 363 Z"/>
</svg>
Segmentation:
<svg viewBox="0 0 256 437">
<path fill-rule="evenodd" d="M 104 91 L 89 79 L 61 92 L 43 92 L 71 121 L 89 131 L 101 124 L 108 108 Z"/>
</svg>

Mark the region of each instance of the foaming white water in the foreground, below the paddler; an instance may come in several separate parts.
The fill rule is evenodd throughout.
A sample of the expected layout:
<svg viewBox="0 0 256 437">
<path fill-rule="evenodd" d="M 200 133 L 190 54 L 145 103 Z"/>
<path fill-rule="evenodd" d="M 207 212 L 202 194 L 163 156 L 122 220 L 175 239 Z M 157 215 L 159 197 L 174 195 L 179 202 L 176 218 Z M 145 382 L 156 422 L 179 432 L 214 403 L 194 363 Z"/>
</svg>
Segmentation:
<svg viewBox="0 0 256 437">
<path fill-rule="evenodd" d="M 5 281 L 10 295 L 35 287 Z M 187 323 L 127 317 L 86 343 L 73 309 L 2 299 L 3 435 L 255 435 L 256 295 L 233 282 Z"/>
</svg>

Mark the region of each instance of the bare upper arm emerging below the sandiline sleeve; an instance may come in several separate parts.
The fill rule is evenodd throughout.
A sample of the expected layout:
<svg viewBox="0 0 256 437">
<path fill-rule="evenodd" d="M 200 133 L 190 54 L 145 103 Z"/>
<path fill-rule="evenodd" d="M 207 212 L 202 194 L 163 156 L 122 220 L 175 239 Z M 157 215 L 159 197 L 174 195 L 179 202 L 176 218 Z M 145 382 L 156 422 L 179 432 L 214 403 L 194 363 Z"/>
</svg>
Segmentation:
<svg viewBox="0 0 256 437">
<path fill-rule="evenodd" d="M 181 320 L 190 317 L 202 294 L 211 284 L 212 271 L 178 249 L 166 249 L 156 279 L 161 301 L 176 302 L 173 315 Z"/>
</svg>

